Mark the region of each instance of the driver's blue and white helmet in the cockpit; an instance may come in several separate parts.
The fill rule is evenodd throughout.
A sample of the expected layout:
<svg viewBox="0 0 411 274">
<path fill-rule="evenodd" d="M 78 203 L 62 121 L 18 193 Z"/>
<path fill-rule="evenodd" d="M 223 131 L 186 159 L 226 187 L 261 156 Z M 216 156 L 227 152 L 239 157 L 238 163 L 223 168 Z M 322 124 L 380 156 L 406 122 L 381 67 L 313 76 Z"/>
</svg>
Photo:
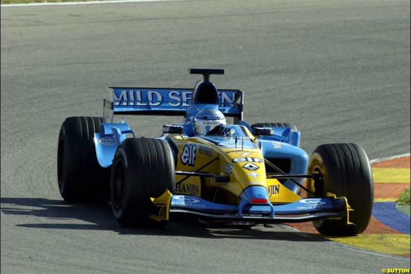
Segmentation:
<svg viewBox="0 0 411 274">
<path fill-rule="evenodd" d="M 227 124 L 226 118 L 218 109 L 207 108 L 199 111 L 194 118 L 194 132 L 206 135 L 219 124 Z"/>
</svg>

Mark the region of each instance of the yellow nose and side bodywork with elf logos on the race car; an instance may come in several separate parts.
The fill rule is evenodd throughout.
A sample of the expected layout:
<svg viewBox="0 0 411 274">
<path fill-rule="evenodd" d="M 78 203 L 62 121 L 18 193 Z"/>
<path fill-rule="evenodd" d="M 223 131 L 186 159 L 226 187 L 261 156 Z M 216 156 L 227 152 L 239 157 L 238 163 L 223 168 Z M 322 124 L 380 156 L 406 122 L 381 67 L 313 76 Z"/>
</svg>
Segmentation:
<svg viewBox="0 0 411 274">
<path fill-rule="evenodd" d="M 255 137 L 245 129 L 251 140 Z M 228 195 L 230 202 L 236 204 L 239 202 L 241 192 L 249 186 L 263 186 L 268 191 L 268 196 L 271 203 L 292 203 L 301 199 L 300 196 L 285 188 L 276 179 L 267 179 L 264 157 L 258 147 L 249 149 L 241 147 L 241 140 L 238 138 L 237 148 L 223 148 L 218 145 L 198 137 L 184 138 L 181 135 L 169 135 L 169 138 L 177 145 L 177 167 L 176 170 L 182 171 L 200 171 L 209 172 L 230 176 L 229 182 L 218 182 L 214 178 L 200 178 L 191 176 L 178 184 L 174 193 L 193 195 L 201 197 L 201 182 L 203 187 L 209 189 L 222 190 Z M 181 157 L 184 152 L 184 147 L 195 145 L 195 160 L 188 163 L 183 163 Z M 187 149 L 186 149 L 187 150 Z M 185 156 L 185 155 L 184 155 Z M 209 166 L 199 170 L 208 162 L 218 157 L 218 160 L 211 163 Z M 191 163 L 191 165 L 190 165 Z M 244 168 L 245 165 L 254 166 L 255 170 Z M 176 182 L 183 179 L 185 176 L 177 175 Z"/>
</svg>

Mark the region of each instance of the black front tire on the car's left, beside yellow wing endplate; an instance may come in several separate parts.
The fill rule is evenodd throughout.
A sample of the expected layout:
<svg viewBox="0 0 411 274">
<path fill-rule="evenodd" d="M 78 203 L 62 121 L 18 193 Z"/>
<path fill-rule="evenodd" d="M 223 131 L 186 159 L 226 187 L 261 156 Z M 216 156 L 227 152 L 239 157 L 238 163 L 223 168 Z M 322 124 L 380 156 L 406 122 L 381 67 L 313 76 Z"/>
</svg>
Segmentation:
<svg viewBox="0 0 411 274">
<path fill-rule="evenodd" d="M 169 144 L 151 138 L 128 138 L 117 148 L 111 169 L 111 208 L 124 227 L 156 227 L 168 221 L 154 221 L 158 212 L 150 197 L 175 188 L 174 157 Z"/>
</svg>

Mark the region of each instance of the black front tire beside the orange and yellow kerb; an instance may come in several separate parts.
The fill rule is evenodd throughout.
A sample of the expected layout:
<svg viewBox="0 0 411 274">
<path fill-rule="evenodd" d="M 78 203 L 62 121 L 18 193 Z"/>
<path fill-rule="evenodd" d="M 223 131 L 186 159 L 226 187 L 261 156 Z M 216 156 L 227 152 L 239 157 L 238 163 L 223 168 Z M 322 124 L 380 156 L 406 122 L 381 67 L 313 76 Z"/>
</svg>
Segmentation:
<svg viewBox="0 0 411 274">
<path fill-rule="evenodd" d="M 373 205 L 373 179 L 365 151 L 358 144 L 323 144 L 311 155 L 308 174 L 319 172 L 318 179 L 307 179 L 307 187 L 320 196 L 327 192 L 345 196 L 354 211 L 346 220 L 314 221 L 324 235 L 354 235 L 363 232 L 370 221 Z"/>
</svg>

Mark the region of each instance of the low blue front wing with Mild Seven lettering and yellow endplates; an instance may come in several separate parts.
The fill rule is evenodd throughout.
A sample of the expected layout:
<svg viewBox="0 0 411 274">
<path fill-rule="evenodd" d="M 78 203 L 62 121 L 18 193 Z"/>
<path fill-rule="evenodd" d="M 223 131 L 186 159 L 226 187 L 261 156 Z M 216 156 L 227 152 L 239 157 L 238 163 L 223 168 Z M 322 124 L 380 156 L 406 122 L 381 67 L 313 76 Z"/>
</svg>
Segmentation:
<svg viewBox="0 0 411 274">
<path fill-rule="evenodd" d="M 164 194 L 162 195 L 164 196 Z M 204 200 L 197 196 L 171 195 L 167 206 L 170 214 L 188 214 L 215 221 L 254 222 L 254 223 L 298 223 L 320 219 L 345 219 L 349 222 L 352 209 L 345 197 L 302 198 L 289 204 L 247 204 L 226 205 Z M 165 203 L 164 203 L 165 202 Z M 156 205 L 156 199 L 153 199 Z M 159 203 L 160 206 L 160 203 Z M 168 216 L 167 216 L 168 217 Z"/>
</svg>

